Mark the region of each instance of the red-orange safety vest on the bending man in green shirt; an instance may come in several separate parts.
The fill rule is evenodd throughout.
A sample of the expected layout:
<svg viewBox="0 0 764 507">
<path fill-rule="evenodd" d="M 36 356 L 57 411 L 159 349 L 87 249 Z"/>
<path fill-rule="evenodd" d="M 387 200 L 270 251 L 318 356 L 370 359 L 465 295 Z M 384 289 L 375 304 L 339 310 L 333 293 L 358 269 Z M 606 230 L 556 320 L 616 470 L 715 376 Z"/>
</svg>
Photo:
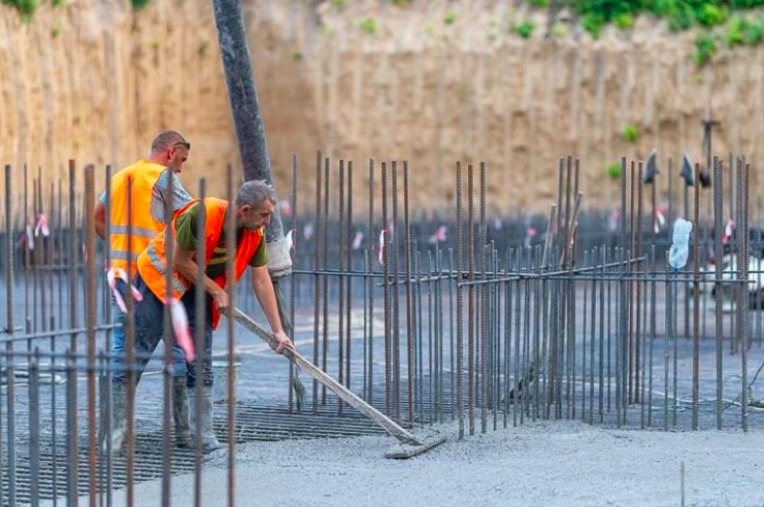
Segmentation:
<svg viewBox="0 0 764 507">
<path fill-rule="evenodd" d="M 176 236 L 176 219 L 186 210 L 188 210 L 195 203 L 198 203 L 199 199 L 194 199 L 177 210 L 173 216 L 171 224 L 171 230 L 173 238 Z M 200 268 L 205 268 L 209 261 L 212 259 L 212 254 L 215 252 L 215 246 L 218 245 L 220 234 L 225 228 L 225 210 L 228 210 L 228 201 L 217 199 L 215 197 L 207 197 L 204 200 L 204 207 L 206 211 L 206 223 L 205 223 L 205 253 L 206 259 L 204 265 L 200 265 Z M 250 231 L 244 229 L 244 233 L 241 236 L 241 240 L 236 248 L 236 258 L 234 260 L 234 273 L 235 282 L 238 282 L 241 275 L 244 275 L 249 262 L 251 261 L 254 252 L 257 252 L 257 247 L 260 245 L 263 239 L 263 229 L 257 229 L 256 231 Z M 196 253 L 193 256 L 196 260 Z M 199 261 L 196 261 L 199 264 Z M 138 256 L 138 273 L 141 274 L 141 278 L 151 289 L 151 292 L 157 296 L 159 301 L 165 301 L 167 297 L 167 288 L 165 286 L 165 275 L 167 273 L 167 255 L 166 255 L 166 243 L 164 240 L 164 232 L 160 232 L 157 236 L 149 242 L 147 248 L 141 252 Z M 220 288 L 225 288 L 225 272 L 215 278 L 215 283 Z M 172 297 L 180 300 L 183 294 L 191 287 L 192 282 L 187 280 L 176 269 L 173 269 L 171 277 L 171 290 Z M 167 303 L 165 303 L 167 304 Z M 220 313 L 218 307 L 212 304 L 212 329 L 218 328 L 220 321 Z"/>
</svg>

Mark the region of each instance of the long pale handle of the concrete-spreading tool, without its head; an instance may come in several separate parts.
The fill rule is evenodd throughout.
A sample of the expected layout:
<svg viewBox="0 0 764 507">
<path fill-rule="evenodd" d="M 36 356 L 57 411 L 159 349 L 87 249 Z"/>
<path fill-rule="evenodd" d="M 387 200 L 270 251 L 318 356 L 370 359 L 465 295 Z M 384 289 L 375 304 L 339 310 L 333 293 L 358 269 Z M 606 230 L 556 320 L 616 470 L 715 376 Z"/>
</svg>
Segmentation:
<svg viewBox="0 0 764 507">
<path fill-rule="evenodd" d="M 247 314 L 244 314 L 244 312 L 238 308 L 234 309 L 234 317 L 238 323 L 246 327 L 252 333 L 259 336 L 272 349 L 276 348 L 277 341 L 273 333 L 270 333 L 264 327 L 261 327 L 260 324 L 252 320 Z M 337 382 L 335 379 L 332 379 L 331 376 L 323 372 L 321 369 L 319 369 L 318 366 L 314 365 L 303 356 L 300 356 L 299 353 L 293 352 L 290 349 L 284 349 L 283 355 L 286 356 L 286 359 L 294 362 L 297 366 L 302 368 L 303 371 L 307 372 L 308 375 L 312 376 L 313 379 L 316 379 L 316 381 L 331 389 L 332 392 L 342 398 L 345 403 L 361 412 L 361 414 L 364 414 L 367 418 L 370 418 L 379 424 L 385 429 L 385 431 L 387 431 L 387 433 L 393 435 L 393 437 L 396 437 L 398 440 L 403 442 L 403 444 L 422 445 L 422 441 L 414 437 L 413 434 L 411 434 L 409 431 L 406 431 L 403 427 L 400 427 L 400 425 L 396 424 L 390 418 L 387 418 L 385 414 L 369 405 L 366 401 L 358 398 L 354 392 Z"/>
</svg>

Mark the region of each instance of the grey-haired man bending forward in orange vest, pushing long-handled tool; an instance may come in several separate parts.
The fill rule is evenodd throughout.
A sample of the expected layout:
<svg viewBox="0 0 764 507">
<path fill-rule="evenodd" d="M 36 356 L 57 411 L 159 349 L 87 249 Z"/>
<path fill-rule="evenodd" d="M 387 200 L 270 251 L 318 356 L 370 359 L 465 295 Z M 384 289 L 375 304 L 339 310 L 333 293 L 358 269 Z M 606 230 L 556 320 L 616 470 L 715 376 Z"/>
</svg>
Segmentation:
<svg viewBox="0 0 764 507">
<path fill-rule="evenodd" d="M 206 292 L 206 324 L 204 330 L 204 355 L 202 362 L 202 398 L 197 399 L 194 388 L 197 382 L 196 364 L 188 362 L 188 395 L 191 401 L 192 430 L 197 404 L 202 411 L 202 447 L 206 452 L 215 450 L 220 444 L 212 428 L 212 333 L 218 327 L 220 316 L 228 308 L 228 294 L 225 290 L 227 240 L 225 224 L 227 213 L 235 213 L 236 254 L 234 262 L 235 284 L 251 268 L 251 284 L 255 297 L 264 310 L 278 346 L 277 353 L 285 347 L 293 349 L 293 343 L 284 333 L 278 313 L 274 286 L 267 270 L 267 250 L 264 241 L 264 227 L 274 213 L 276 195 L 273 187 L 264 181 L 249 181 L 241 186 L 234 203 L 214 197 L 193 200 L 175 213 L 171 230 L 175 236 L 173 243 L 173 271 L 170 293 L 171 305 L 182 304 L 189 323 L 189 332 L 196 334 L 196 288 L 199 270 L 203 269 L 203 285 Z M 205 258 L 196 258 L 197 227 L 199 214 L 204 206 L 205 213 Z M 138 257 L 138 276 L 134 287 L 141 294 L 141 301 L 135 304 L 135 352 L 138 358 L 137 379 L 146 365 L 147 358 L 154 352 L 162 336 L 163 313 L 167 302 L 165 286 L 167 274 L 165 234 L 160 232 L 151 240 Z M 174 311 L 174 310 L 173 310 Z"/>
</svg>

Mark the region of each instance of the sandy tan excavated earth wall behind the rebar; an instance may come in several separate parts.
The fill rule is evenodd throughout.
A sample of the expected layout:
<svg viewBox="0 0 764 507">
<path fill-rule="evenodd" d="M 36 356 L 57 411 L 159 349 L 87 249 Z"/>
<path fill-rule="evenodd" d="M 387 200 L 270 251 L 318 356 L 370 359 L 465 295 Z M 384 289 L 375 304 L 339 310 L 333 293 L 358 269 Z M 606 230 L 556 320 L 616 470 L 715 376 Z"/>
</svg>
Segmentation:
<svg viewBox="0 0 764 507">
<path fill-rule="evenodd" d="M 452 24 L 445 23 L 454 12 Z M 153 135 L 177 128 L 193 145 L 186 186 L 238 162 L 211 2 L 70 0 L 42 5 L 30 23 L 0 7 L 0 159 L 21 188 L 42 167 L 46 184 L 66 161 L 122 167 Z M 764 145 L 764 47 L 693 63 L 694 34 L 669 34 L 640 18 L 633 31 L 607 28 L 601 41 L 576 30 L 545 39 L 542 11 L 525 2 L 246 0 L 244 14 L 277 184 L 286 195 L 299 155 L 301 203 L 309 206 L 316 150 L 356 162 L 408 159 L 413 205 L 453 199 L 455 161 L 486 161 L 490 206 L 547 210 L 556 159 L 581 157 L 584 204 L 617 199 L 605 167 L 620 155 L 702 158 L 701 119 L 721 125 L 714 149 L 756 164 Z M 530 18 L 530 41 L 511 33 Z M 374 21 L 374 33 L 361 20 Z M 365 25 L 367 26 L 367 24 Z M 636 125 L 635 144 L 620 138 Z M 309 172 L 310 171 L 310 172 Z M 761 181 L 752 176 L 754 189 Z M 101 185 L 102 174 L 97 184 Z M 676 185 L 678 188 L 678 185 Z M 357 200 L 356 211 L 364 210 Z"/>
</svg>

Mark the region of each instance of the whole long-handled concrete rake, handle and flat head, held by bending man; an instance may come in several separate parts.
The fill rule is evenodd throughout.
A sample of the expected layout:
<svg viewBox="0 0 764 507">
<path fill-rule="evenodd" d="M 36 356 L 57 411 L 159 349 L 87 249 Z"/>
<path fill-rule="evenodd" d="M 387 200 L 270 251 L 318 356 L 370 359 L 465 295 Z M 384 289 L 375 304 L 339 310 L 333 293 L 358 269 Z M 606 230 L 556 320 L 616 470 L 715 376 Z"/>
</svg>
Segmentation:
<svg viewBox="0 0 764 507">
<path fill-rule="evenodd" d="M 234 310 L 234 317 L 238 323 L 246 327 L 252 333 L 259 336 L 261 340 L 264 340 L 264 342 L 267 343 L 272 349 L 276 348 L 277 343 L 273 333 L 270 333 L 264 329 L 264 327 L 261 327 L 260 324 L 252 320 L 247 314 L 244 314 L 244 312 L 238 308 Z M 322 369 L 319 369 L 318 366 L 314 365 L 312 362 L 309 362 L 303 356 L 300 356 L 299 353 L 296 353 L 290 349 L 285 349 L 283 351 L 283 355 L 286 356 L 286 359 L 289 359 L 296 366 L 299 366 L 299 368 L 303 369 L 304 372 L 307 372 L 308 375 L 310 375 L 313 379 L 316 379 L 316 381 L 318 381 L 320 384 L 325 385 L 326 388 L 334 392 L 335 395 L 338 395 L 342 401 L 345 401 L 345 403 L 361 412 L 361 414 L 364 414 L 364 416 L 370 418 L 372 421 L 383 427 L 387 433 L 391 434 L 393 437 L 396 437 L 400 441 L 400 446 L 393 447 L 393 449 L 389 450 L 385 454 L 385 457 L 397 459 L 414 457 L 417 454 L 421 454 L 427 450 L 430 450 L 432 447 L 442 444 L 445 441 L 445 437 L 415 437 L 399 424 L 392 421 L 390 418 L 387 418 L 387 416 L 382 414 L 382 412 L 378 411 L 376 408 L 369 405 L 366 401 L 359 398 L 350 389 L 346 388 L 335 379 L 332 379 L 331 376 L 329 376 Z"/>
</svg>

